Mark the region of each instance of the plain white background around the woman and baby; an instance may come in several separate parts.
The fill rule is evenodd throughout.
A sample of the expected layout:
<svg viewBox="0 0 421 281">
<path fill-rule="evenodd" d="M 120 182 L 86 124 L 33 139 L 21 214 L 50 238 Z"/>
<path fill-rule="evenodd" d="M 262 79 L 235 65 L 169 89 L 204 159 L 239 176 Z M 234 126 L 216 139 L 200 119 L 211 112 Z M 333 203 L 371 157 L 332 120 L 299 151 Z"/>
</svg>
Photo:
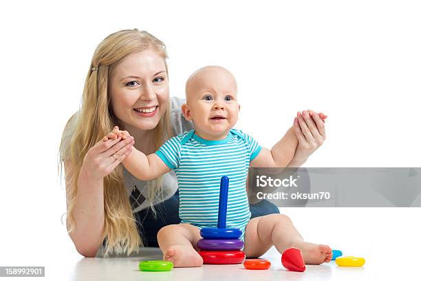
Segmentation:
<svg viewBox="0 0 421 281">
<path fill-rule="evenodd" d="M 231 70 L 242 106 L 237 127 L 265 147 L 297 111 L 323 111 L 327 140 L 307 167 L 421 166 L 417 1 L 142 2 L 0 4 L 0 266 L 79 258 L 60 220 L 58 145 L 96 45 L 121 29 L 147 30 L 166 43 L 173 96 L 184 96 L 198 67 Z M 373 250 L 373 220 L 390 239 L 421 235 L 420 209 L 388 210 L 387 218 L 381 210 L 282 211 L 308 240 L 360 253 Z M 365 235 L 341 240 L 333 226 Z"/>
</svg>

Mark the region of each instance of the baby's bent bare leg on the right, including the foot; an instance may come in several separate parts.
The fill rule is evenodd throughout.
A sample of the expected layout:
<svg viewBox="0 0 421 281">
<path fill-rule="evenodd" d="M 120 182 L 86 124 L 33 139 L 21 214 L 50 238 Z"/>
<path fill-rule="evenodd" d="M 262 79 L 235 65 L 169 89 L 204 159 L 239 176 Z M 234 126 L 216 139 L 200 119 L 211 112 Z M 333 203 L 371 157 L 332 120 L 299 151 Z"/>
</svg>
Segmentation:
<svg viewBox="0 0 421 281">
<path fill-rule="evenodd" d="M 304 242 L 288 216 L 271 214 L 250 220 L 246 227 L 246 256 L 257 258 L 272 245 L 279 253 L 290 247 L 300 249 L 306 264 L 321 264 L 332 258 L 332 249 L 329 246 Z"/>
</svg>

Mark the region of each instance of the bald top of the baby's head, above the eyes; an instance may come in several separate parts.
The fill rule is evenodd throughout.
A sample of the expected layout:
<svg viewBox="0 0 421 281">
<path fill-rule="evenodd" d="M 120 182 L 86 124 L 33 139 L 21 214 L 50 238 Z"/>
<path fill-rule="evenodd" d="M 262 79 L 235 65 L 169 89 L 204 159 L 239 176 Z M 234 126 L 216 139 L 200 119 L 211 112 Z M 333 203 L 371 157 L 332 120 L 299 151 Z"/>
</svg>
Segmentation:
<svg viewBox="0 0 421 281">
<path fill-rule="evenodd" d="M 237 96 L 237 81 L 224 67 L 208 65 L 196 70 L 186 82 L 186 101 L 203 91 L 230 92 Z"/>
</svg>

